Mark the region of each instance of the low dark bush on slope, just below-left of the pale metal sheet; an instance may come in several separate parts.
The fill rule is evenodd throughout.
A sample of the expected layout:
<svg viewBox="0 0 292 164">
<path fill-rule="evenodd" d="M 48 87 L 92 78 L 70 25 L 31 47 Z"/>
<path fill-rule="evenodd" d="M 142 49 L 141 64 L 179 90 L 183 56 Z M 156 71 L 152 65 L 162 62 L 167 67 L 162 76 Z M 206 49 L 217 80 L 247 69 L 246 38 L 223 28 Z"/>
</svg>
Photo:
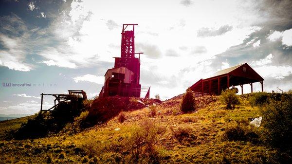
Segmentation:
<svg viewBox="0 0 292 164">
<path fill-rule="evenodd" d="M 229 141 L 255 141 L 258 135 L 254 127 L 237 124 L 226 128 L 223 138 Z"/>
</svg>

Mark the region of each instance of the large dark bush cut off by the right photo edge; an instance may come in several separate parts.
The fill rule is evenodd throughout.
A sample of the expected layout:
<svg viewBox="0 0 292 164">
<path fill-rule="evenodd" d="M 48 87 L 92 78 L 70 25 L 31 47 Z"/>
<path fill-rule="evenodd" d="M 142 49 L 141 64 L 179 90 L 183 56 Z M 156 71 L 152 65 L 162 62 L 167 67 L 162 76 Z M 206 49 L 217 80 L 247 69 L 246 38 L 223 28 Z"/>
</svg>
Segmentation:
<svg viewBox="0 0 292 164">
<path fill-rule="evenodd" d="M 275 147 L 292 150 L 292 91 L 261 109 L 266 141 Z"/>
</svg>

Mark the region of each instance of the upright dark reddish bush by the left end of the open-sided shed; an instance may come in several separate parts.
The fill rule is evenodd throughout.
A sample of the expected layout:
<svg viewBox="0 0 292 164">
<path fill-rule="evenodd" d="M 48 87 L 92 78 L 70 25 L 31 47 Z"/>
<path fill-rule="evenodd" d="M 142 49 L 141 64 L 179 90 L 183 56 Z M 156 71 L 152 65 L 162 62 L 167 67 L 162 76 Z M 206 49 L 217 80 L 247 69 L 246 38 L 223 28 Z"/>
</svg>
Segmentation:
<svg viewBox="0 0 292 164">
<path fill-rule="evenodd" d="M 195 110 L 195 99 L 192 91 L 187 90 L 184 93 L 181 110 L 184 113 Z"/>
</svg>

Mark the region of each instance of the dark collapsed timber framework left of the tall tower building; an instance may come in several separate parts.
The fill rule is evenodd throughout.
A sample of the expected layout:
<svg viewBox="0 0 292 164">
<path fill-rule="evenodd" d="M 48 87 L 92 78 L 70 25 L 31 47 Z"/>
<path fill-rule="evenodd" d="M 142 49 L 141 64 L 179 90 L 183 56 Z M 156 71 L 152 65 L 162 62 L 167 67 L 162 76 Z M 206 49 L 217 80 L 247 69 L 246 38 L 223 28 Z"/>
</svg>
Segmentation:
<svg viewBox="0 0 292 164">
<path fill-rule="evenodd" d="M 39 115 L 42 115 L 45 112 L 53 111 L 64 102 L 70 102 L 71 110 L 78 110 L 78 104 L 80 101 L 87 100 L 86 92 L 83 90 L 68 90 L 69 94 L 44 94 L 41 93 L 41 103 L 40 103 L 40 112 Z M 55 97 L 54 106 L 49 109 L 43 109 L 43 97 L 44 95 L 51 95 Z"/>
</svg>

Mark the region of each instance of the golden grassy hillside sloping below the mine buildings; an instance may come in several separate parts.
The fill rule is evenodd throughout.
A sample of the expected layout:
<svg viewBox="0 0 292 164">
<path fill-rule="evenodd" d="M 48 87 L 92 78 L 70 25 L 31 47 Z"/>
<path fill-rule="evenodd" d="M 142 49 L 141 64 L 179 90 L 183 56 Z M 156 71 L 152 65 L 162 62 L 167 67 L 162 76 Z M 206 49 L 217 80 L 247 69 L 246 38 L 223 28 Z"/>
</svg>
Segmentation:
<svg viewBox="0 0 292 164">
<path fill-rule="evenodd" d="M 28 117 L 3 121 L 0 122 L 0 163 L 127 163 L 129 155 L 133 153 L 128 149 L 134 142 L 130 137 L 133 139 L 134 135 L 143 133 L 143 126 L 148 127 L 147 133 L 152 133 L 153 125 L 158 127 L 155 133 L 158 137 L 154 138 L 157 141 L 155 153 L 160 154 L 154 156 L 157 163 L 280 163 L 278 150 L 262 144 L 256 137 L 255 140 L 245 141 L 230 141 L 224 137 L 228 127 L 247 123 L 248 118 L 260 116 L 259 108 L 249 105 L 249 97 L 250 94 L 241 95 L 240 105 L 232 110 L 220 104 L 219 96 L 198 97 L 197 110 L 183 114 L 180 112 L 180 95 L 161 104 L 124 112 L 126 120 L 123 123 L 116 116 L 104 124 L 76 133 L 66 130 L 70 129 L 68 126 L 73 126 L 68 124 L 58 134 L 34 140 L 5 140 L 4 137 L 9 130 L 19 128 L 19 123 Z"/>
</svg>

